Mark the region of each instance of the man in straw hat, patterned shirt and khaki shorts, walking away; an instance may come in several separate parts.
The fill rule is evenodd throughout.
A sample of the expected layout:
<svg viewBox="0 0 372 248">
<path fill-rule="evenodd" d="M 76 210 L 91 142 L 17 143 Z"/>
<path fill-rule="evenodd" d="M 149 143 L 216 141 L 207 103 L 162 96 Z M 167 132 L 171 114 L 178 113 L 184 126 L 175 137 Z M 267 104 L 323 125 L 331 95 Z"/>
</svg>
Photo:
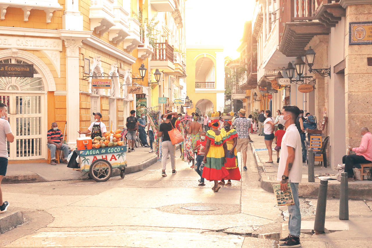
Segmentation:
<svg viewBox="0 0 372 248">
<path fill-rule="evenodd" d="M 241 108 L 238 112 L 239 118 L 234 120 L 232 126 L 238 133 L 238 143 L 236 145 L 236 151 L 241 152 L 243 157 L 244 170 L 247 170 L 247 151 L 248 143 L 253 142 L 249 137 L 249 129 L 251 128 L 251 121 L 246 118 L 246 110 Z"/>
</svg>

